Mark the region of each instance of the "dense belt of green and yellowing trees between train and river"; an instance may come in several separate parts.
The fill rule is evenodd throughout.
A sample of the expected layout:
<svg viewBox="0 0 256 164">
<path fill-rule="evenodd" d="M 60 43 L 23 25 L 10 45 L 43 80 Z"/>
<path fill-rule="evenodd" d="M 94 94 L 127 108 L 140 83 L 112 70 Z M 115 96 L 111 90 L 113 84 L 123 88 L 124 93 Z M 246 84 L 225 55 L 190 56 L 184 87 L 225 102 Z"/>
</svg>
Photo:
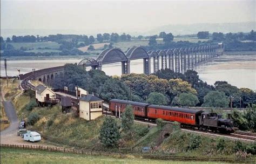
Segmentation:
<svg viewBox="0 0 256 164">
<path fill-rule="evenodd" d="M 237 88 L 226 81 L 214 86 L 199 79 L 198 73 L 188 70 L 184 74 L 170 69 L 156 74 L 123 74 L 109 77 L 103 71 L 85 71 L 82 67 L 68 64 L 65 78 L 55 78 L 55 88 L 88 88 L 90 93 L 104 100 L 113 98 L 147 102 L 159 105 L 248 107 L 256 104 L 256 93 L 248 88 Z"/>
</svg>

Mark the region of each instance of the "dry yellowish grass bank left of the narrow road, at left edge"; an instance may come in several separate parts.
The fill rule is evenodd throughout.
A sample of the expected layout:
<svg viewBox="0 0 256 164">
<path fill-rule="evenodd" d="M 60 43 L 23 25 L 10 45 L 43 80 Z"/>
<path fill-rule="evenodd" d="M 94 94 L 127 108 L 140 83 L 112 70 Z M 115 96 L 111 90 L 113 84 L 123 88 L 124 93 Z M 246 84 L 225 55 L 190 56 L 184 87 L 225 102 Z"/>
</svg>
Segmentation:
<svg viewBox="0 0 256 164">
<path fill-rule="evenodd" d="M 0 81 L 0 83 L 1 83 L 1 92 L 4 95 L 5 100 L 12 100 L 15 97 L 15 95 L 22 92 L 18 88 L 18 80 L 9 79 L 8 80 L 8 87 L 7 87 L 7 80 L 6 79 L 0 79 L 0 80 L 1 80 Z M 3 106 L 3 103 L 2 103 L 2 94 L 0 95 L 0 98 L 1 98 L 0 119 L 8 121 L 8 117 L 5 114 L 4 106 Z M 5 124 L 5 122 L 1 122 L 1 131 L 3 131 L 8 126 L 9 126 L 9 122 L 8 122 L 8 124 Z"/>
</svg>

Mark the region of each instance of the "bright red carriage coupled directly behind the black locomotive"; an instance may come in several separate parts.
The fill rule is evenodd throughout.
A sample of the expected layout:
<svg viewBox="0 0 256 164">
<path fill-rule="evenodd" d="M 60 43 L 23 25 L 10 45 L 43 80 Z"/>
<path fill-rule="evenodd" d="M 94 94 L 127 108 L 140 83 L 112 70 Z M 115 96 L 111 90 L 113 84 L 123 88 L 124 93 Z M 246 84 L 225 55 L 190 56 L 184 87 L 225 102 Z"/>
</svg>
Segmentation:
<svg viewBox="0 0 256 164">
<path fill-rule="evenodd" d="M 170 106 L 149 105 L 147 106 L 147 117 L 163 119 L 166 121 L 177 121 L 181 124 L 199 125 L 199 115 L 203 111 Z"/>
</svg>

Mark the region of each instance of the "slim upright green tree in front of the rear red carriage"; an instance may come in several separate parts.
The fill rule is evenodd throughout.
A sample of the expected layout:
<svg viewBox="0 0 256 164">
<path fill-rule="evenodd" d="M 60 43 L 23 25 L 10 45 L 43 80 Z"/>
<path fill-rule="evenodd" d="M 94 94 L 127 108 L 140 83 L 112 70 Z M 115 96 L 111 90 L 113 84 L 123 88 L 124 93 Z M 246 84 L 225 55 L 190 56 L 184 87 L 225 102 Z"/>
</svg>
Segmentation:
<svg viewBox="0 0 256 164">
<path fill-rule="evenodd" d="M 132 125 L 134 122 L 134 114 L 131 105 L 125 107 L 125 111 L 122 113 L 122 124 L 124 132 L 131 132 Z"/>
</svg>

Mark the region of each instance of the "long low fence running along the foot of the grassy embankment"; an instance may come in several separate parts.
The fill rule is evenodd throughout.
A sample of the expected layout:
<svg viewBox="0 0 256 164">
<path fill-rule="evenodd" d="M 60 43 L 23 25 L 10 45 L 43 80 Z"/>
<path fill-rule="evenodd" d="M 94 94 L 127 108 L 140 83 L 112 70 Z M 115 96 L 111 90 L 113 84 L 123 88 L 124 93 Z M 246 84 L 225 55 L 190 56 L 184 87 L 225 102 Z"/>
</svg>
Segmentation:
<svg viewBox="0 0 256 164">
<path fill-rule="evenodd" d="M 40 145 L 9 145 L 1 144 L 1 148 L 17 148 L 17 149 L 31 149 L 36 151 L 49 151 L 49 152 L 63 152 L 92 156 L 112 156 L 115 158 L 131 158 L 131 156 L 144 159 L 156 159 L 156 160 L 173 160 L 173 161 L 221 161 L 232 163 L 254 163 L 255 158 L 221 158 L 221 157 L 209 157 L 209 156 L 177 156 L 177 155 L 158 155 L 158 154 L 124 154 L 124 153 L 110 153 L 100 151 L 84 151 L 81 149 L 64 148 L 64 147 L 51 147 Z"/>
</svg>

